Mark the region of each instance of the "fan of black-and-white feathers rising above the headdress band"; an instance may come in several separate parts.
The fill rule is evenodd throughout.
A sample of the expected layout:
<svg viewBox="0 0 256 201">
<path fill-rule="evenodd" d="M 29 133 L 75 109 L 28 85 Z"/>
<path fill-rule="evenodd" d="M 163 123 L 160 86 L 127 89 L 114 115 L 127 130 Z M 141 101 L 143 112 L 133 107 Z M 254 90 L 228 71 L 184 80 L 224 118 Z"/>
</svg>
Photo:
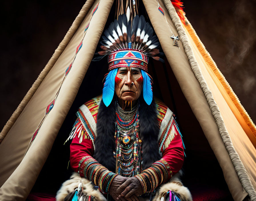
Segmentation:
<svg viewBox="0 0 256 201">
<path fill-rule="evenodd" d="M 98 52 L 101 56 L 94 58 L 93 61 L 98 61 L 113 51 L 129 49 L 129 44 L 132 47 L 130 49 L 163 61 L 163 59 L 159 59 L 162 54 L 156 49 L 160 46 L 158 38 L 153 35 L 154 31 L 150 24 L 145 21 L 145 17 L 136 15 L 132 22 L 129 18 L 130 9 L 128 7 L 127 14 L 119 15 L 118 20 L 115 19 L 104 31 L 103 40 L 100 41 L 104 51 Z M 129 21 L 127 21 L 128 19 Z"/>
</svg>

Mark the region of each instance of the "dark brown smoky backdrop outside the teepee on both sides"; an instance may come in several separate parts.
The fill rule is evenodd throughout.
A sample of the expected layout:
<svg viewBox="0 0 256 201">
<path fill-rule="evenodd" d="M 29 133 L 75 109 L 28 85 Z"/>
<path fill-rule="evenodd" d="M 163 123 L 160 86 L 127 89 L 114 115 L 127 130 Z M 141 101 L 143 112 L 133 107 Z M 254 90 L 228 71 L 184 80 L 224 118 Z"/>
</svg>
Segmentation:
<svg viewBox="0 0 256 201">
<path fill-rule="evenodd" d="M 5 1 L 1 17 L 1 117 L 7 122 L 85 1 Z M 255 1 L 183 0 L 186 16 L 256 121 Z"/>
</svg>

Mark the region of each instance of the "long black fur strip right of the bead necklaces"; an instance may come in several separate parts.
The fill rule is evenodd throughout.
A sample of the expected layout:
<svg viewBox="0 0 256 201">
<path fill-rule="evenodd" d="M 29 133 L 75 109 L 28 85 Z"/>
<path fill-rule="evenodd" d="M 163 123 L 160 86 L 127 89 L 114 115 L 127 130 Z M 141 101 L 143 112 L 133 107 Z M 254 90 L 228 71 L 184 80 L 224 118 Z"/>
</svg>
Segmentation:
<svg viewBox="0 0 256 201">
<path fill-rule="evenodd" d="M 139 101 L 139 135 L 142 140 L 142 169 L 145 170 L 161 159 L 157 141 L 160 128 L 155 100 L 153 99 L 150 105 L 142 98 Z"/>
</svg>

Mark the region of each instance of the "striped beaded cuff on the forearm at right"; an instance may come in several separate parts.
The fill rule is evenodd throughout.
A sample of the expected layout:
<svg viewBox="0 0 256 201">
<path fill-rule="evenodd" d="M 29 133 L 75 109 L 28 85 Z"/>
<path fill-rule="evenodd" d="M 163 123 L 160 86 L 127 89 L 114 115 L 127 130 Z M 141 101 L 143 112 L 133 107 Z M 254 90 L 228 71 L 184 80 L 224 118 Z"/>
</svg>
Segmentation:
<svg viewBox="0 0 256 201">
<path fill-rule="evenodd" d="M 164 160 L 158 160 L 154 162 L 151 167 L 143 170 L 141 174 L 135 175 L 142 186 L 144 193 L 153 192 L 155 188 L 166 182 L 172 177 L 172 171 L 169 164 Z"/>
</svg>

